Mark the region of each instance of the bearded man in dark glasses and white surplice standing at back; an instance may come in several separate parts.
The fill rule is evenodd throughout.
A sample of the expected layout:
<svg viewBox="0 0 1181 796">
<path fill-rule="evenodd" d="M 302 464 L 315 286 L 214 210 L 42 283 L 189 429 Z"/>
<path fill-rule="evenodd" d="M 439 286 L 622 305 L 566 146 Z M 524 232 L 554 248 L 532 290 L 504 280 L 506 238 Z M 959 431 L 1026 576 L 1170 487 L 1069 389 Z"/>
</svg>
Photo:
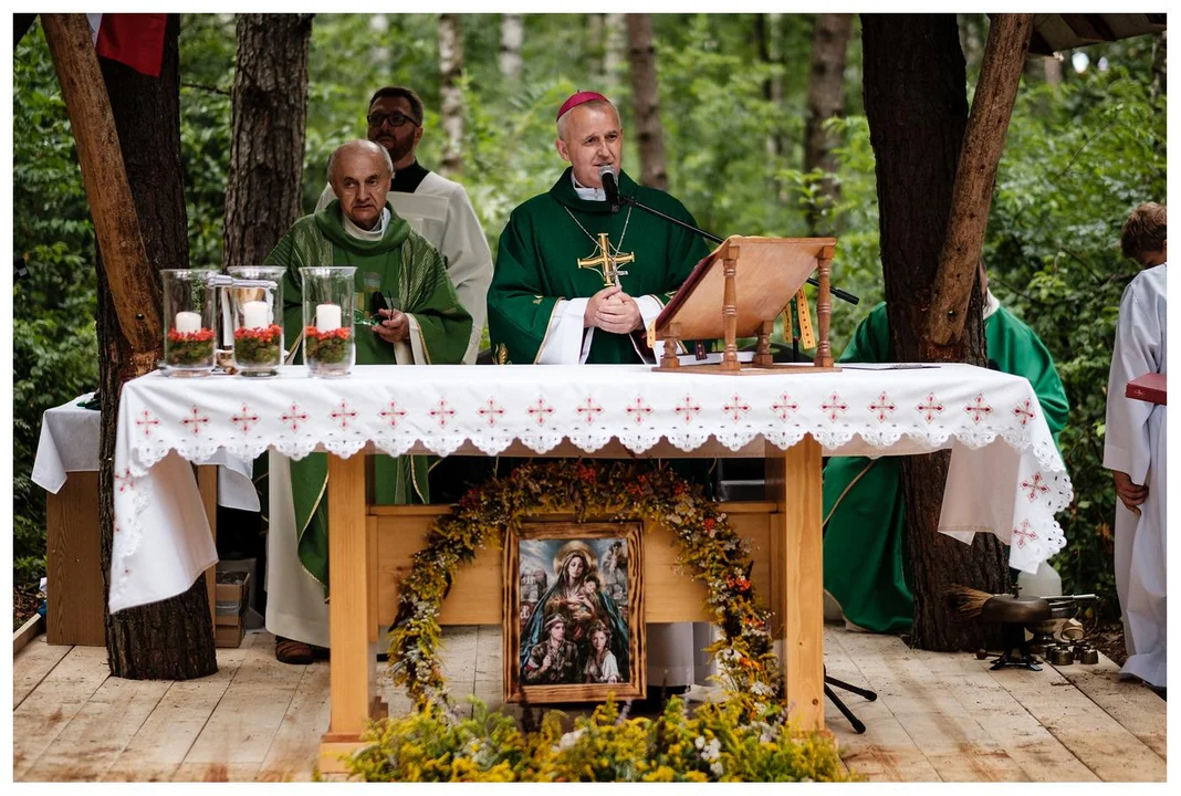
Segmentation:
<svg viewBox="0 0 1181 796">
<path fill-rule="evenodd" d="M 385 86 L 370 99 L 366 137 L 385 146 L 393 161 L 393 178 L 385 201 L 399 217 L 443 255 L 459 304 L 471 315 L 471 338 L 463 361 L 472 365 L 487 317 L 485 296 L 492 281 L 492 253 L 463 185 L 423 168 L 418 142 L 423 138 L 423 100 L 403 86 Z M 325 185 L 315 205 L 319 213 L 335 198 Z"/>
</svg>

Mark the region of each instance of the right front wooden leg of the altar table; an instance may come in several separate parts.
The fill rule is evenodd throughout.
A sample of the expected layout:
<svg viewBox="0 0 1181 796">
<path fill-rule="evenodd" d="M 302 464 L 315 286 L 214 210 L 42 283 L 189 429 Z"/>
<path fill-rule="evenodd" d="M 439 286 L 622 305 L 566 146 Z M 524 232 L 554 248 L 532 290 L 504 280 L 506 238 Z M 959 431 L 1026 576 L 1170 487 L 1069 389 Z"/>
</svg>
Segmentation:
<svg viewBox="0 0 1181 796">
<path fill-rule="evenodd" d="M 771 530 L 772 605 L 783 631 L 784 693 L 800 726 L 824 726 L 824 561 L 821 537 L 821 449 L 804 437 L 766 459 L 768 500 L 778 503 Z M 779 585 L 778 588 L 775 585 Z"/>
</svg>

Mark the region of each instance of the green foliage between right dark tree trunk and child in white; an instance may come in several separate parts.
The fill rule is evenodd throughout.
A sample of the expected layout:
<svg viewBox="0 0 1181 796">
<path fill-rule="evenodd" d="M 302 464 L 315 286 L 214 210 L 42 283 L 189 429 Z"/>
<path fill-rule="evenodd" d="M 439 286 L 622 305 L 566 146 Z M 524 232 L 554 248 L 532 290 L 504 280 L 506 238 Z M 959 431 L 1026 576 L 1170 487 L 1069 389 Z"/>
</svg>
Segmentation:
<svg viewBox="0 0 1181 796">
<path fill-rule="evenodd" d="M 1102 468 L 1107 379 L 1120 295 L 1136 265 L 1120 228 L 1164 201 L 1164 98 L 1149 94 L 1150 39 L 1089 50 L 1111 67 L 1061 86 L 1024 86 L 997 176 L 985 260 L 990 287 L 1038 333 L 1070 399 L 1061 436 L 1075 502 L 1059 515 L 1053 563 L 1068 593 L 1097 592 L 1118 615 L 1113 578 L 1115 490 Z"/>
</svg>

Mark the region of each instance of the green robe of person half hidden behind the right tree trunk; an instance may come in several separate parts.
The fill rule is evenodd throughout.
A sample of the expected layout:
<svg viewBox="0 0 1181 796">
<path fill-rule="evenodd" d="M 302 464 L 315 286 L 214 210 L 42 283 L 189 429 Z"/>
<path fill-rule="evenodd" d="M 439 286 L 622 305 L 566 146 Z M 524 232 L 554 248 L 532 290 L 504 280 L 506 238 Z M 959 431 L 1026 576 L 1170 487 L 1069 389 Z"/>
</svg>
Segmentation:
<svg viewBox="0 0 1181 796">
<path fill-rule="evenodd" d="M 990 364 L 1033 385 L 1057 442 L 1066 424 L 1066 393 L 1050 352 L 1033 331 L 998 307 L 984 321 Z M 857 325 L 842 363 L 893 361 L 886 305 Z M 824 589 L 844 618 L 867 631 L 900 633 L 914 620 L 907 586 L 902 466 L 899 457 L 836 457 L 824 468 Z"/>
</svg>

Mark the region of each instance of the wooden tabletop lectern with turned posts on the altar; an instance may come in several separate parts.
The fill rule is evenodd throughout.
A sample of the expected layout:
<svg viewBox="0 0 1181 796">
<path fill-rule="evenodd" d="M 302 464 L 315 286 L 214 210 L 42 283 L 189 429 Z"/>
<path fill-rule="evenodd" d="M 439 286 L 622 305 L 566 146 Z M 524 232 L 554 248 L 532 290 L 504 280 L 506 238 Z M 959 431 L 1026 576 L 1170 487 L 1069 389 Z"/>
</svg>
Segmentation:
<svg viewBox="0 0 1181 796">
<path fill-rule="evenodd" d="M 839 371 L 833 365 L 828 340 L 833 299 L 829 270 L 836 240 L 831 237 L 740 237 L 718 246 L 685 280 L 685 283 L 653 324 L 657 339 L 665 341 L 664 357 L 654 370 L 681 373 L 768 373 L 791 367 L 795 372 Z M 811 367 L 776 365 L 771 359 L 775 318 L 788 306 L 816 272 L 818 335 Z M 737 339 L 758 337 L 749 367 L 738 361 Z M 723 338 L 725 351 L 718 365 L 681 365 L 677 345 L 681 340 Z"/>
</svg>

